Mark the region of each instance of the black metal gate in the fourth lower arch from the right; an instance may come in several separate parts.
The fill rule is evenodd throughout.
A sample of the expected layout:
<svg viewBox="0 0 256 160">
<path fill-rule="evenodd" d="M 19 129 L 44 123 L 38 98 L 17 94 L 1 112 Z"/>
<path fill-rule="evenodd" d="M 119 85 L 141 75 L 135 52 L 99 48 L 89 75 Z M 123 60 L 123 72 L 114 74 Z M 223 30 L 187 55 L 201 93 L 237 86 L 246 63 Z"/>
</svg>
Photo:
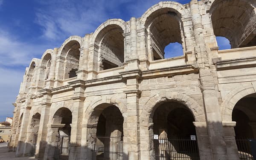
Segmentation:
<svg viewBox="0 0 256 160">
<path fill-rule="evenodd" d="M 56 136 L 54 159 L 68 160 L 70 151 L 70 136 Z"/>
</svg>

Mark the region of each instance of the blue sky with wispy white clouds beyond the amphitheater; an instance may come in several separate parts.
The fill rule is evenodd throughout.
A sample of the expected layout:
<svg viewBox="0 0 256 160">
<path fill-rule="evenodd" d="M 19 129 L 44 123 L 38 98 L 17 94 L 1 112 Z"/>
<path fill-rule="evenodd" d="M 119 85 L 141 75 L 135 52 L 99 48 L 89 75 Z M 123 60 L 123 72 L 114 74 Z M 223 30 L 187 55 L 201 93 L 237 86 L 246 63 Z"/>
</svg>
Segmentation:
<svg viewBox="0 0 256 160">
<path fill-rule="evenodd" d="M 175 0 L 189 3 L 189 0 Z M 159 0 L 0 0 L 0 121 L 12 117 L 25 68 L 33 57 L 60 47 L 71 35 L 83 37 L 110 18 L 141 15 Z M 168 47 L 167 47 L 168 48 Z M 169 46 L 167 54 L 181 53 Z"/>
</svg>

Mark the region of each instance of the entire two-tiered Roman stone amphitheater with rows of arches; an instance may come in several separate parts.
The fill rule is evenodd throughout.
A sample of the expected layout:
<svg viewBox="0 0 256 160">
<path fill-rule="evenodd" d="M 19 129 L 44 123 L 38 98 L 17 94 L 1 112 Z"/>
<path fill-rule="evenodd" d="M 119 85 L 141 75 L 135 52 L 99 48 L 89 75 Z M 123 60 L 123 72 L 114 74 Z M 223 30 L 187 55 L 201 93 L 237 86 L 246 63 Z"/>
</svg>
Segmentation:
<svg viewBox="0 0 256 160">
<path fill-rule="evenodd" d="M 219 50 L 217 36 L 232 49 Z M 183 55 L 165 58 L 175 42 Z M 9 150 L 39 160 L 256 160 L 255 104 L 256 1 L 159 2 L 32 59 Z"/>
</svg>

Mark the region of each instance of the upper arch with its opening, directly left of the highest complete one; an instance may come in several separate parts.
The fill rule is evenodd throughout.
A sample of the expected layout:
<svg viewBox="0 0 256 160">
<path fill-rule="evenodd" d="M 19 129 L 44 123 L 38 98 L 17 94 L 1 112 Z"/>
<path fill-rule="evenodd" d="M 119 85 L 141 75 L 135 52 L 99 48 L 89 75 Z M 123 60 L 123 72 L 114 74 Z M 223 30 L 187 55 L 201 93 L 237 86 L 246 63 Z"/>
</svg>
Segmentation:
<svg viewBox="0 0 256 160">
<path fill-rule="evenodd" d="M 100 71 L 122 66 L 125 62 L 125 37 L 129 32 L 129 25 L 121 19 L 110 19 L 102 23 L 92 35 L 93 70 Z"/>
</svg>

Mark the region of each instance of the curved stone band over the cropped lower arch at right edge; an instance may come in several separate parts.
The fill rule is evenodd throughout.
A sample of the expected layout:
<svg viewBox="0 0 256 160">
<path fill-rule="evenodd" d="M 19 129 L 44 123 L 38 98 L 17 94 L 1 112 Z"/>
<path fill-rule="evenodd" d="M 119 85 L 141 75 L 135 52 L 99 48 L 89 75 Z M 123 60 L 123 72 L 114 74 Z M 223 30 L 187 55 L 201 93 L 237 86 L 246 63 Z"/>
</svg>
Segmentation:
<svg viewBox="0 0 256 160">
<path fill-rule="evenodd" d="M 233 89 L 230 91 L 227 96 L 224 98 L 221 103 L 221 117 L 222 121 L 232 121 L 232 111 L 236 103 L 243 97 L 256 93 L 254 86 L 242 86 L 240 88 Z"/>
</svg>

